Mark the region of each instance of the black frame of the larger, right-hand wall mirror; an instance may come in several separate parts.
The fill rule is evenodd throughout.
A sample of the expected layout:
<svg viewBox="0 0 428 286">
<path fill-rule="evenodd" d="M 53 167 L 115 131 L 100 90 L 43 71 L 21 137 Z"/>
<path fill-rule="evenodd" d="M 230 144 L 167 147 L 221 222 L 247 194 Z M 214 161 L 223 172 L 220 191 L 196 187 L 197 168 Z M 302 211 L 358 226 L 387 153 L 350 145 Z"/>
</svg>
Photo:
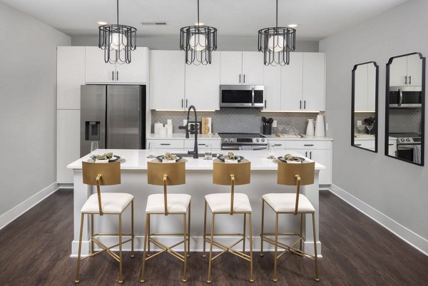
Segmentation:
<svg viewBox="0 0 428 286">
<path fill-rule="evenodd" d="M 415 54 L 419 55 L 419 58 L 422 59 L 422 98 L 421 98 L 421 103 L 422 103 L 421 146 L 422 146 L 422 148 L 421 148 L 421 163 L 420 164 L 411 162 L 409 160 L 404 160 L 401 158 L 391 156 L 391 155 L 389 155 L 389 152 L 388 152 L 388 148 L 389 148 L 389 142 L 388 142 L 388 138 L 389 138 L 389 68 L 392 64 L 392 61 L 394 61 L 394 58 L 401 58 L 403 56 L 412 56 Z M 384 144 L 384 148 L 385 148 L 385 156 L 387 156 L 389 158 L 402 160 L 403 162 L 411 163 L 411 164 L 418 165 L 418 166 L 424 165 L 424 149 L 425 149 L 425 57 L 422 56 L 422 53 L 418 53 L 418 52 L 406 53 L 406 54 L 401 55 L 401 56 L 393 56 L 393 57 L 389 58 L 389 61 L 387 63 L 387 83 L 385 86 L 385 144 Z"/>
</svg>

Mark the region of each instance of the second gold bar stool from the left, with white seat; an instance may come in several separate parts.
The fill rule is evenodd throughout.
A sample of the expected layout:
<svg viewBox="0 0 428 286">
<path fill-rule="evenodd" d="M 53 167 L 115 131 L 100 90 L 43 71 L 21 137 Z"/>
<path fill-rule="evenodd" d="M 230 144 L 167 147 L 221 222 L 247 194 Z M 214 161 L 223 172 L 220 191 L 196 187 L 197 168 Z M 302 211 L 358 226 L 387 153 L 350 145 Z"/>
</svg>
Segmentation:
<svg viewBox="0 0 428 286">
<path fill-rule="evenodd" d="M 177 163 L 161 163 L 161 162 L 148 162 L 147 163 L 147 178 L 150 185 L 163 185 L 163 194 L 149 195 L 146 206 L 146 228 L 144 230 L 144 252 L 143 252 L 143 267 L 141 267 L 141 280 L 144 280 L 146 272 L 146 261 L 156 257 L 157 255 L 167 252 L 173 257 L 184 262 L 182 282 L 187 281 L 187 258 L 190 257 L 188 250 L 190 250 L 190 195 L 185 194 L 168 194 L 167 185 L 183 185 L 185 184 L 185 161 Z M 188 216 L 187 216 L 188 211 Z M 151 215 L 183 215 L 183 233 L 151 233 L 150 231 L 150 217 Z M 186 230 L 186 216 L 188 225 Z M 168 247 L 157 240 L 152 238 L 152 235 L 165 236 L 165 235 L 183 235 L 183 240 Z M 161 248 L 160 252 L 150 255 L 150 242 L 157 247 Z M 173 250 L 173 247 L 183 243 L 184 254 Z"/>
</svg>

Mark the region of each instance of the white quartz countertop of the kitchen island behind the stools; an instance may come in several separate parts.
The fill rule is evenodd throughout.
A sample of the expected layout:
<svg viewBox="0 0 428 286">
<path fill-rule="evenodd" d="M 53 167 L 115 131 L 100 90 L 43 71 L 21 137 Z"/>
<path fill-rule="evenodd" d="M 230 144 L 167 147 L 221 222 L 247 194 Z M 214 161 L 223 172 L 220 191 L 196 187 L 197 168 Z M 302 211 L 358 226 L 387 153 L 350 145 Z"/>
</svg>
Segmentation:
<svg viewBox="0 0 428 286">
<path fill-rule="evenodd" d="M 148 150 L 129 150 L 129 149 L 99 149 L 96 150 L 96 153 L 108 153 L 113 152 L 114 155 L 121 156 L 121 158 L 125 158 L 126 162 L 121 164 L 122 170 L 147 170 L 147 161 L 148 160 L 156 160 L 156 159 L 148 159 Z M 173 154 L 185 153 L 184 150 L 168 150 L 168 152 Z M 163 155 L 165 151 L 158 150 L 155 155 Z M 213 153 L 227 153 L 225 150 L 213 150 Z M 235 155 L 241 155 L 245 159 L 250 160 L 251 162 L 251 170 L 277 170 L 277 163 L 275 163 L 271 159 L 267 159 L 267 150 L 240 150 L 235 151 Z M 285 154 L 291 154 L 298 157 L 302 157 L 302 155 L 296 153 L 293 150 L 281 150 L 280 153 L 278 151 L 275 156 L 283 156 Z M 82 161 L 88 160 L 89 155 L 80 158 L 73 163 L 67 165 L 68 169 L 81 169 Z M 213 160 L 204 160 L 203 158 L 193 159 L 193 157 L 185 157 L 186 170 L 213 170 Z M 308 162 L 313 162 L 309 158 L 305 158 Z M 325 170 L 325 166 L 320 163 L 315 163 L 315 170 Z"/>
</svg>

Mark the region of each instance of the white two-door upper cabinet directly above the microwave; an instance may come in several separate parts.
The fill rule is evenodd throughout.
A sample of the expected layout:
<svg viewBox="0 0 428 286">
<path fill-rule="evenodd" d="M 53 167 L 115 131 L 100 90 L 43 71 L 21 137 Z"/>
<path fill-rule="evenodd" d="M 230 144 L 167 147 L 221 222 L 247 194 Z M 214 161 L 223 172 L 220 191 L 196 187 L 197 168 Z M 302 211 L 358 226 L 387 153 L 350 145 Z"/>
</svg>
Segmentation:
<svg viewBox="0 0 428 286">
<path fill-rule="evenodd" d="M 263 86 L 263 53 L 257 51 L 220 52 L 220 84 Z"/>
</svg>

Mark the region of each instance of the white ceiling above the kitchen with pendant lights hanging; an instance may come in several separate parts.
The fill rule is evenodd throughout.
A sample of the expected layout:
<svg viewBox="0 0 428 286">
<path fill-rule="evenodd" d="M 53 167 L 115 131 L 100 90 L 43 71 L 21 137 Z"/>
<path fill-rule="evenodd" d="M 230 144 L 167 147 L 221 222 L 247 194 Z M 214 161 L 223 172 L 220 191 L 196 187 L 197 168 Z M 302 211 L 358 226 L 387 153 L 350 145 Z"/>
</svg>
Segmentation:
<svg viewBox="0 0 428 286">
<path fill-rule="evenodd" d="M 116 22 L 116 0 L 0 0 L 70 36 L 95 35 L 96 21 Z M 278 26 L 297 23 L 297 40 L 320 40 L 407 0 L 279 0 Z M 178 34 L 193 25 L 196 0 L 120 0 L 120 24 L 138 36 Z M 168 21 L 168 26 L 141 26 Z M 275 26 L 275 0 L 200 0 L 200 21 L 220 36 L 255 36 Z"/>
</svg>

